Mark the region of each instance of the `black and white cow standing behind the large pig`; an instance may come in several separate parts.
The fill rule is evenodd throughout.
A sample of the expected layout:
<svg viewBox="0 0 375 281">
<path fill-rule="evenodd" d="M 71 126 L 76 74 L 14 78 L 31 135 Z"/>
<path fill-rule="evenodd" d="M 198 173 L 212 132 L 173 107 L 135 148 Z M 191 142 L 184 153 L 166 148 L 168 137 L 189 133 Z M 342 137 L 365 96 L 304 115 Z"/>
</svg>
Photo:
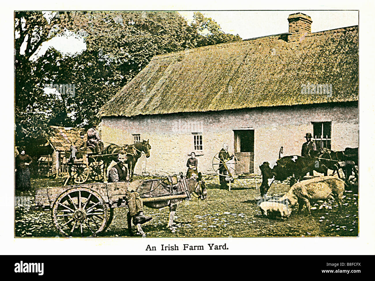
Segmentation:
<svg viewBox="0 0 375 281">
<path fill-rule="evenodd" d="M 259 168 L 262 172 L 262 184 L 260 186 L 262 198 L 267 195 L 267 191 L 274 180 L 283 181 L 292 177 L 290 180 L 290 186 L 292 186 L 296 181 L 302 180 L 309 171 L 327 172 L 327 167 L 319 164 L 317 159 L 297 155 L 284 156 L 276 161 L 272 168 L 269 162 L 263 162 Z"/>
</svg>

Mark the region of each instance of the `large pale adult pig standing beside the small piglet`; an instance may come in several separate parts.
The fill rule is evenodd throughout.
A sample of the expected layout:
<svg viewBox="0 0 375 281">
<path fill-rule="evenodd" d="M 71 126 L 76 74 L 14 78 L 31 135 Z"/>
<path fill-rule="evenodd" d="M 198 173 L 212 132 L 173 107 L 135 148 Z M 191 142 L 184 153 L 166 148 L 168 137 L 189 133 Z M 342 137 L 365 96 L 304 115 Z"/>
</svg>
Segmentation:
<svg viewBox="0 0 375 281">
<path fill-rule="evenodd" d="M 306 208 L 311 215 L 311 201 L 326 200 L 330 195 L 335 198 L 341 209 L 344 189 L 345 182 L 340 178 L 330 175 L 317 177 L 294 184 L 291 189 L 279 199 L 279 201 L 288 202 L 288 208 L 293 208 L 293 206 L 298 203 L 298 213 L 301 213 L 303 206 L 306 205 Z M 281 211 L 284 212 L 284 209 Z"/>
</svg>

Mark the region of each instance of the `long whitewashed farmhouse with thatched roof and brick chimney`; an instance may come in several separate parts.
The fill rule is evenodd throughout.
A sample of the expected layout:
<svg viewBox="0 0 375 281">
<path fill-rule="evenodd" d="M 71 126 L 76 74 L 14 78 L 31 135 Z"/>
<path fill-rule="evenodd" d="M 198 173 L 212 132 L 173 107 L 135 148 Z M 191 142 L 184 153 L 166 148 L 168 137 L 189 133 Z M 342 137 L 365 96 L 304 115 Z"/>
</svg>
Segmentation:
<svg viewBox="0 0 375 281">
<path fill-rule="evenodd" d="M 288 33 L 157 55 L 101 109 L 102 140 L 150 139 L 135 173 L 198 170 L 228 143 L 237 173 L 300 155 L 306 132 L 318 147 L 358 147 L 358 27 L 311 33 L 312 19 L 288 17 Z"/>
</svg>

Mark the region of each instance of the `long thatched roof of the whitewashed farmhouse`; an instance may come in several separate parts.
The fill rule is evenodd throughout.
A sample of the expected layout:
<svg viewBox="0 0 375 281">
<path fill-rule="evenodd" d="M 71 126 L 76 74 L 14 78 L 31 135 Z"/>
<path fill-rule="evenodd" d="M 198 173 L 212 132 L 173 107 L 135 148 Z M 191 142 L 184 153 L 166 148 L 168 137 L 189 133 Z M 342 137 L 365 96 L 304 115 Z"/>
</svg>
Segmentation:
<svg viewBox="0 0 375 281">
<path fill-rule="evenodd" d="M 158 55 L 102 116 L 207 112 L 358 100 L 358 27 L 278 34 Z M 332 97 L 301 85 L 332 84 Z"/>
</svg>

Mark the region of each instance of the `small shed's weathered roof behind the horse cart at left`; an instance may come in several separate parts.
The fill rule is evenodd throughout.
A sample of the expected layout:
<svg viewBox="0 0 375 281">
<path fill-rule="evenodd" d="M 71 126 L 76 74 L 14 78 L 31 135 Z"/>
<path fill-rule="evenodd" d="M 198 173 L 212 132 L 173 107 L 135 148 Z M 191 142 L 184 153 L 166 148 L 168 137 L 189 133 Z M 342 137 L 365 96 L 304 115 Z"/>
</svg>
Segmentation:
<svg viewBox="0 0 375 281">
<path fill-rule="evenodd" d="M 48 143 L 57 151 L 69 150 L 72 143 L 80 138 L 80 132 L 85 132 L 84 141 L 87 140 L 87 134 L 83 128 L 66 128 L 58 126 L 50 126 L 51 134 Z"/>
</svg>

